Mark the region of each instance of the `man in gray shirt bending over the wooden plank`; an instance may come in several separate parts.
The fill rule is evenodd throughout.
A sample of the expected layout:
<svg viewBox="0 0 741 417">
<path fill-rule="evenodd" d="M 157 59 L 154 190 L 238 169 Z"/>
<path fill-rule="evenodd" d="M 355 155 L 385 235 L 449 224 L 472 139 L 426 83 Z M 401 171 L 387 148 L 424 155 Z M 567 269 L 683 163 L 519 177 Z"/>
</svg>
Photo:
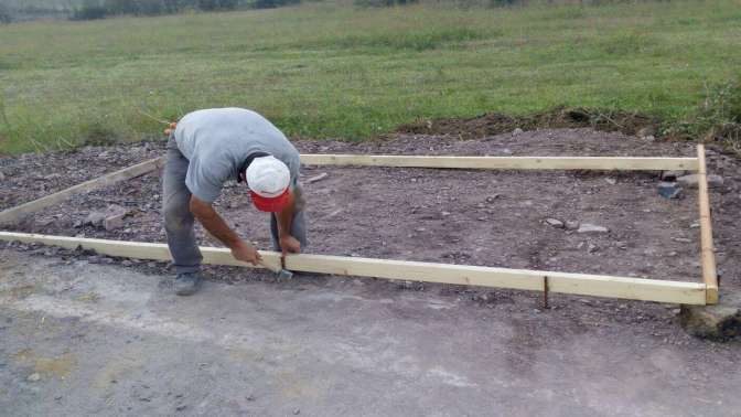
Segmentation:
<svg viewBox="0 0 741 417">
<path fill-rule="evenodd" d="M 240 238 L 214 210 L 227 180 L 246 182 L 253 204 L 270 213 L 275 250 L 299 253 L 307 245 L 299 152 L 270 121 L 243 108 L 213 108 L 185 115 L 170 132 L 162 206 L 175 292 L 200 286 L 203 256 L 194 220 L 243 261 L 258 265 L 255 245 Z"/>
</svg>

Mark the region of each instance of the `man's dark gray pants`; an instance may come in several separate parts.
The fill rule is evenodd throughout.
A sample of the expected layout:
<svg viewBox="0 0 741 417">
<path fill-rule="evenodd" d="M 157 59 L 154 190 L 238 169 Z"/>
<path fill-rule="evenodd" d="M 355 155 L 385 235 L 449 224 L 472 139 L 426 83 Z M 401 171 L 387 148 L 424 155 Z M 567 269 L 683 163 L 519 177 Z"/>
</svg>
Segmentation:
<svg viewBox="0 0 741 417">
<path fill-rule="evenodd" d="M 168 235 L 168 246 L 172 254 L 176 274 L 194 272 L 201 267 L 203 256 L 198 250 L 193 224 L 195 218 L 191 213 L 191 192 L 185 186 L 187 159 L 180 152 L 173 136 L 168 141 L 168 156 L 162 175 L 162 211 L 164 213 L 164 231 Z M 301 186 L 293 189 L 296 194 L 297 213 L 291 223 L 291 235 L 301 243 L 301 249 L 307 246 L 307 227 L 303 214 L 305 205 Z M 245 196 L 247 196 L 245 189 Z M 275 214 L 270 214 L 270 234 L 272 248 L 280 250 L 278 242 L 278 222 Z"/>
</svg>

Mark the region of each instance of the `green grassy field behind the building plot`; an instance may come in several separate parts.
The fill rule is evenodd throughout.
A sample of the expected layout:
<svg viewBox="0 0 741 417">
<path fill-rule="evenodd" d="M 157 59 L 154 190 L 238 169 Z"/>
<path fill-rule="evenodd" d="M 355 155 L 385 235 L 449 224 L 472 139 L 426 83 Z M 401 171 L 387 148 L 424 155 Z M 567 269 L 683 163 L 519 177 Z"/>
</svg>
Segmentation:
<svg viewBox="0 0 741 417">
<path fill-rule="evenodd" d="M 0 152 L 159 135 L 203 107 L 292 137 L 558 105 L 679 121 L 741 67 L 741 0 L 296 8 L 0 25 Z"/>
</svg>

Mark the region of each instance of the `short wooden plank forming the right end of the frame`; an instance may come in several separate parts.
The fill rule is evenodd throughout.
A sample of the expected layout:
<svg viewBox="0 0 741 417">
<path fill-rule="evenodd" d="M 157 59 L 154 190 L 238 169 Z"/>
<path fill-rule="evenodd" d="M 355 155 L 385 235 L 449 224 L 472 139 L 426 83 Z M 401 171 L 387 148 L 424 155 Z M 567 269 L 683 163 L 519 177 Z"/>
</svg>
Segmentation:
<svg viewBox="0 0 741 417">
<path fill-rule="evenodd" d="M 697 146 L 699 160 L 698 200 L 700 203 L 700 250 L 702 260 L 702 281 L 706 285 L 706 302 L 718 303 L 718 271 L 712 246 L 712 222 L 710 220 L 710 196 L 708 195 L 708 169 L 705 163 L 705 146 Z"/>
</svg>

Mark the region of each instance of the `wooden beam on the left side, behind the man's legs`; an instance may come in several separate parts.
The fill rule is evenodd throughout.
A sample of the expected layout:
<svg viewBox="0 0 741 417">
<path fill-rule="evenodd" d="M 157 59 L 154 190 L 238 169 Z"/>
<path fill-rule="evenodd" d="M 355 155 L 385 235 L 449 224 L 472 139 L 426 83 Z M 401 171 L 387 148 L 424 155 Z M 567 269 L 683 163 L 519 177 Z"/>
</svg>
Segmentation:
<svg viewBox="0 0 741 417">
<path fill-rule="evenodd" d="M 141 177 L 151 171 L 154 171 L 162 167 L 162 158 L 154 158 L 146 162 L 138 163 L 128 168 L 124 168 L 116 172 L 105 174 L 103 177 L 85 181 L 77 185 L 73 185 L 66 190 L 43 196 L 41 199 L 28 202 L 25 204 L 18 205 L 12 209 L 4 210 L 0 212 L 0 225 L 9 225 L 17 223 L 21 218 L 36 213 L 41 210 L 44 210 L 54 204 L 58 204 L 75 194 L 85 193 L 88 191 L 101 189 L 104 186 L 109 186 L 121 181 L 130 180 L 132 178 Z"/>
</svg>

